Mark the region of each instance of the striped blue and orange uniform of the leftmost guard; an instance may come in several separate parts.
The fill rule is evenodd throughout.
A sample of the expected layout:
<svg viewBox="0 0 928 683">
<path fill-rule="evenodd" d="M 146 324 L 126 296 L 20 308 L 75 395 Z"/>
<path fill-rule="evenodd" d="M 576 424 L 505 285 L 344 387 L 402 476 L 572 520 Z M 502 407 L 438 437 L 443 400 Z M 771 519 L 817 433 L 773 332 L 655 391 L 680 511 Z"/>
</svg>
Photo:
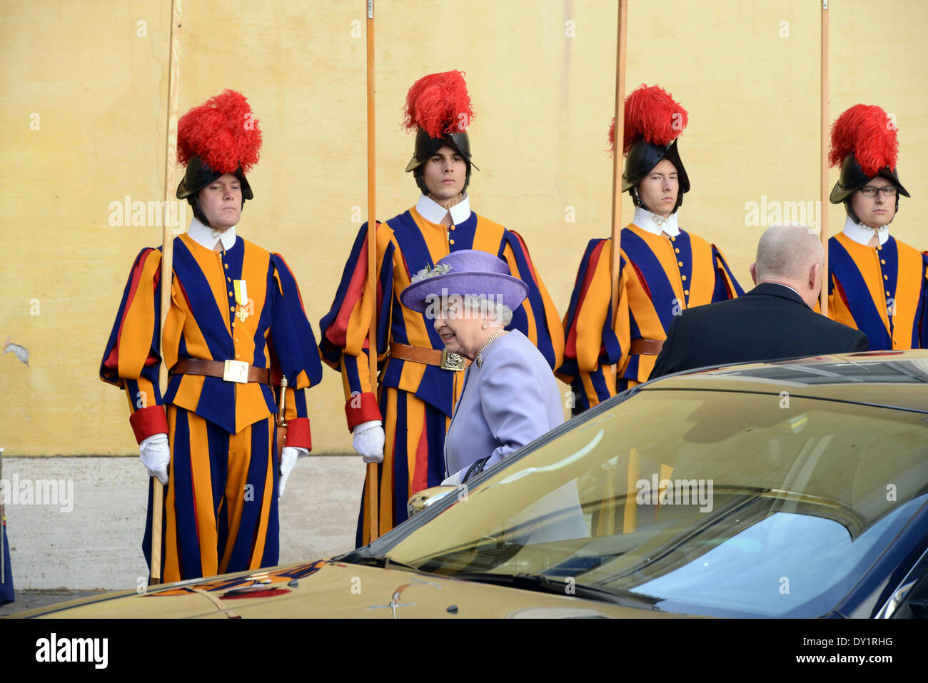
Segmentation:
<svg viewBox="0 0 928 683">
<path fill-rule="evenodd" d="M 287 445 L 311 447 L 303 389 L 322 379 L 316 338 L 296 280 L 277 253 L 236 238 L 212 251 L 174 238 L 171 308 L 159 343 L 161 249 L 144 249 L 132 266 L 100 365 L 100 378 L 125 389 L 139 443 L 167 432 L 161 576 L 164 581 L 277 564 L 277 404 L 257 382 L 178 374 L 161 396 L 161 363 L 239 360 L 270 368 L 290 383 Z M 234 283 L 245 280 L 237 305 Z M 248 314 L 241 319 L 237 309 Z M 153 485 L 143 549 L 150 567 Z"/>
</svg>

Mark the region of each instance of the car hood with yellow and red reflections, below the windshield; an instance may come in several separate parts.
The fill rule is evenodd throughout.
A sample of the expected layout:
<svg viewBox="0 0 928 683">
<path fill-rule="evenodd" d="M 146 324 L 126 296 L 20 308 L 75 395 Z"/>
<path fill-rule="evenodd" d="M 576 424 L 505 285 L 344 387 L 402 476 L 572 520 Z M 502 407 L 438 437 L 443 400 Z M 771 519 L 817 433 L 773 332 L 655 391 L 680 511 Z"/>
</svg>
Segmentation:
<svg viewBox="0 0 928 683">
<path fill-rule="evenodd" d="M 15 618 L 664 618 L 571 596 L 336 561 L 227 574 L 72 600 Z"/>
</svg>

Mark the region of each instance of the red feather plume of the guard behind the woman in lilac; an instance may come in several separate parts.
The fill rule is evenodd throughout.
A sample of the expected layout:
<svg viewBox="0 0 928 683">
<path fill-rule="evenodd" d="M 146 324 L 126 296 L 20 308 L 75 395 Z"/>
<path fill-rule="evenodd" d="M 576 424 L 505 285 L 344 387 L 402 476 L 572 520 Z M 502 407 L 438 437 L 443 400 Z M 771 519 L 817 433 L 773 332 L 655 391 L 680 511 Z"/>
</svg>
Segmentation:
<svg viewBox="0 0 928 683">
<path fill-rule="evenodd" d="M 473 121 L 470 95 L 463 71 L 430 73 L 412 84 L 406 94 L 403 126 L 421 128 L 432 137 L 467 130 Z"/>
</svg>

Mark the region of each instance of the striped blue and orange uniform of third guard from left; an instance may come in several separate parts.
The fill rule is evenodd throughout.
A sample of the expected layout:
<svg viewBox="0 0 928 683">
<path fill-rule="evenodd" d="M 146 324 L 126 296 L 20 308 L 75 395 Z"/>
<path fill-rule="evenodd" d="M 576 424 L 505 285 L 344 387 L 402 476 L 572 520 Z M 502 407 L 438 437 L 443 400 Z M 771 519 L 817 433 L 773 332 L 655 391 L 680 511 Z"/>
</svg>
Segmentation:
<svg viewBox="0 0 928 683">
<path fill-rule="evenodd" d="M 586 246 L 564 316 L 564 364 L 558 376 L 574 389 L 576 413 L 648 380 L 657 355 L 632 353 L 633 342 L 664 342 L 682 310 L 744 293 L 722 252 L 685 230 L 666 237 L 632 223 L 621 239 L 614 321 L 612 238 L 592 239 Z"/>
</svg>

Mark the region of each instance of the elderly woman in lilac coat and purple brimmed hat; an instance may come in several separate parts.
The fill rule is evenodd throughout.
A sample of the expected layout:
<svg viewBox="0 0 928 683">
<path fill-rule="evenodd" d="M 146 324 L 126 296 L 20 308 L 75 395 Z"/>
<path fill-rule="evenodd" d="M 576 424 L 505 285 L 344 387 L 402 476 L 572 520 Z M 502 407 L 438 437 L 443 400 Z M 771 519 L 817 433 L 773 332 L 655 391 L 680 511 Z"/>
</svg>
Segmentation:
<svg viewBox="0 0 928 683">
<path fill-rule="evenodd" d="M 504 261 L 472 250 L 420 271 L 400 295 L 433 321 L 446 351 L 471 361 L 445 436 L 445 484 L 462 483 L 478 460 L 490 467 L 564 421 L 545 356 L 522 332 L 506 330 L 527 295 Z"/>
</svg>

